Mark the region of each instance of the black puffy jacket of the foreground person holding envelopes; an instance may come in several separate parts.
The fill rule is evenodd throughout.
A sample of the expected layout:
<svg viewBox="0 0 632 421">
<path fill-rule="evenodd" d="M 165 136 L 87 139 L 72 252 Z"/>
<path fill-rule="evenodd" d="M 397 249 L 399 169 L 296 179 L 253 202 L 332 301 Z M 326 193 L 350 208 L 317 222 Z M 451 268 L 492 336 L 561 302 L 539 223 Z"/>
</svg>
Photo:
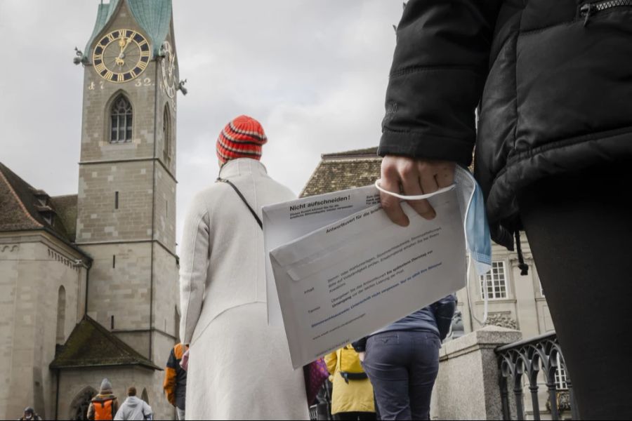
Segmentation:
<svg viewBox="0 0 632 421">
<path fill-rule="evenodd" d="M 378 153 L 469 165 L 474 145 L 492 236 L 508 248 L 520 188 L 629 161 L 632 0 L 409 0 Z"/>
</svg>

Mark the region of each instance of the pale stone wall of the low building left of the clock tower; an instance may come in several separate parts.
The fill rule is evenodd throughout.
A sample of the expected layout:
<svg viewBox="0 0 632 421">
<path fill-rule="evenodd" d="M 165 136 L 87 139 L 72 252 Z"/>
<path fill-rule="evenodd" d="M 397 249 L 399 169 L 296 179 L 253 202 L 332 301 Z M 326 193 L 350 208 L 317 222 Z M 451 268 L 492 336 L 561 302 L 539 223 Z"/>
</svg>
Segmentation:
<svg viewBox="0 0 632 421">
<path fill-rule="evenodd" d="M 48 365 L 55 344 L 65 342 L 83 316 L 86 270 L 73 265 L 81 257 L 44 232 L 0 236 L 1 419 L 19 417 L 26 406 L 53 417 L 55 379 Z"/>
</svg>

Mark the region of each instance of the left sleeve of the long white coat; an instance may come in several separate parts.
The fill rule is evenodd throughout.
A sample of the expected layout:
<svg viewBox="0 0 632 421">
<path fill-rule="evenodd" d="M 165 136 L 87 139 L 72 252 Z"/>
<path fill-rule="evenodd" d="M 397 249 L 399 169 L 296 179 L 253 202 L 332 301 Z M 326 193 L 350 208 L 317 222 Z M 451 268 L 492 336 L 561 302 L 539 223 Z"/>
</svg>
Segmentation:
<svg viewBox="0 0 632 421">
<path fill-rule="evenodd" d="M 202 311 L 204 282 L 209 267 L 209 212 L 202 194 L 193 200 L 185 218 L 180 259 L 180 337 L 188 345 Z"/>
</svg>

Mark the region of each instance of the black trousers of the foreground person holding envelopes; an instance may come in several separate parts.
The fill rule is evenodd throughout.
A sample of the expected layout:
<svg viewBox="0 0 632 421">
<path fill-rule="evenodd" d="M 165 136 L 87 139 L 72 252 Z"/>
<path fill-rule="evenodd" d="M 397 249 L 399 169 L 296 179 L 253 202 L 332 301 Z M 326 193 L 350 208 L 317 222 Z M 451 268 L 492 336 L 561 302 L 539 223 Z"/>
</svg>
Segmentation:
<svg viewBox="0 0 632 421">
<path fill-rule="evenodd" d="M 631 163 L 554 176 L 518 195 L 584 420 L 632 417 Z"/>
</svg>

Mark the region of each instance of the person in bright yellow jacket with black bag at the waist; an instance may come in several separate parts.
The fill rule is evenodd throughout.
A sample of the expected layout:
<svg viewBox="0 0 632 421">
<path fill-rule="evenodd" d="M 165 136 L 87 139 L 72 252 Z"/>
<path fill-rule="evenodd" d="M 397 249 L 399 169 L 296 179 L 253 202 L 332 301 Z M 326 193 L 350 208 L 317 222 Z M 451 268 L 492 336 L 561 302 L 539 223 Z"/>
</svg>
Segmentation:
<svg viewBox="0 0 632 421">
<path fill-rule="evenodd" d="M 331 414 L 334 420 L 375 420 L 373 387 L 357 352 L 345 345 L 325 356 L 331 373 Z"/>
</svg>

